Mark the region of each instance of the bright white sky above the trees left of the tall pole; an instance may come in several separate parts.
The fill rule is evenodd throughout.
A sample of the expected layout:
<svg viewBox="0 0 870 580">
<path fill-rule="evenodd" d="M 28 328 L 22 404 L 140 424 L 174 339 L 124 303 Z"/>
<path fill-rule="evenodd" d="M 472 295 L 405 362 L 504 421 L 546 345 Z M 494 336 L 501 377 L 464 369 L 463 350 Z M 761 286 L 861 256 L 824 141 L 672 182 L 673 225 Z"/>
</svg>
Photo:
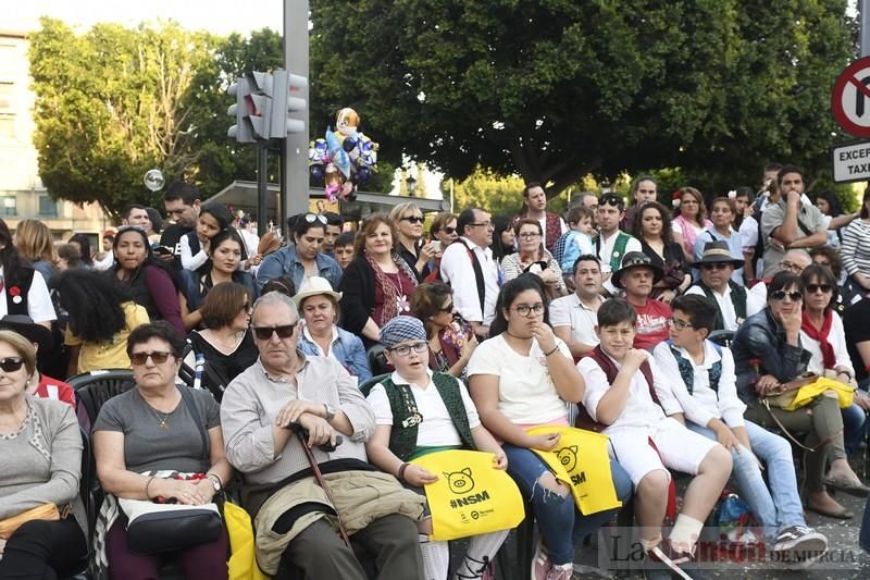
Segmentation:
<svg viewBox="0 0 870 580">
<path fill-rule="evenodd" d="M 140 22 L 174 20 L 189 29 L 247 35 L 264 27 L 281 32 L 284 18 L 282 0 L 28 0 L 14 4 L 14 13 L 12 10 L 3 11 L 0 28 L 14 32 L 37 29 L 39 16 L 47 15 L 70 25 L 80 25 L 84 29 L 97 22 L 116 22 L 132 27 Z M 248 10 L 241 12 L 238 7 Z M 264 10 L 258 13 L 256 7 Z"/>
</svg>

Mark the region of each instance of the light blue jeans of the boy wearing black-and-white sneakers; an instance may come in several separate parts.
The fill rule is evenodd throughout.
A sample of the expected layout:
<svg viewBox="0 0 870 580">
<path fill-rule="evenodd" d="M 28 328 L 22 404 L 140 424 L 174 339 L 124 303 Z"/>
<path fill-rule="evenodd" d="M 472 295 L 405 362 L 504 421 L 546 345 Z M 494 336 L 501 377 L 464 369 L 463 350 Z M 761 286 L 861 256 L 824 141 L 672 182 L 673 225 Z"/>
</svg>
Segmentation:
<svg viewBox="0 0 870 580">
<path fill-rule="evenodd" d="M 712 430 L 706 427 L 692 422 L 687 422 L 686 427 L 706 437 L 716 439 Z M 763 527 L 765 535 L 774 539 L 783 528 L 806 526 L 804 508 L 797 493 L 792 446 L 785 439 L 751 421 L 746 421 L 745 427 L 753 454 L 765 464 L 770 485 L 765 483 L 755 458 L 748 453 L 737 453 L 734 448 L 731 449 L 734 460 L 731 473 L 753 515 Z"/>
</svg>

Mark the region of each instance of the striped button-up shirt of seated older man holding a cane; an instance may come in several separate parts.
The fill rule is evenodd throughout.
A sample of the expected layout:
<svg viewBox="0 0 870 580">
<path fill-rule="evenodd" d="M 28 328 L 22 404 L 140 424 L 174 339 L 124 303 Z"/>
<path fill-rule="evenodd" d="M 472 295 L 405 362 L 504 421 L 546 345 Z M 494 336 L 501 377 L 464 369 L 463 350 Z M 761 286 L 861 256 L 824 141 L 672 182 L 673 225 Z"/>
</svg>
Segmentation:
<svg viewBox="0 0 870 580">
<path fill-rule="evenodd" d="M 312 449 L 319 464 L 349 458 L 365 461 L 364 442 L 374 432 L 374 411 L 357 388 L 357 381 L 332 358 L 297 353 L 302 357 L 302 367 L 296 372 L 296 383 L 270 377 L 257 359 L 224 393 L 221 427 L 226 458 L 245 474 L 246 483 L 277 483 L 309 467 L 296 436 L 281 453 L 274 453 L 272 427 L 281 409 L 297 399 L 328 403 L 336 411 L 345 411 L 353 425 L 353 434 L 343 437 L 333 453 Z"/>
</svg>

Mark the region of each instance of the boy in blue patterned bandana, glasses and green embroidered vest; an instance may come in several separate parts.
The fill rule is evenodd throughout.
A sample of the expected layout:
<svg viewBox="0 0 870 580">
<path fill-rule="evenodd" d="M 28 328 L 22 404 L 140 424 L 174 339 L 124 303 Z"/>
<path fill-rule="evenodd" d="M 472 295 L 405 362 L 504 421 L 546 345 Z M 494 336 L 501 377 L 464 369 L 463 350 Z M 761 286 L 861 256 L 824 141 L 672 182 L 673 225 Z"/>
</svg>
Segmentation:
<svg viewBox="0 0 870 580">
<path fill-rule="evenodd" d="M 465 385 L 450 374 L 428 369 L 428 340 L 422 321 L 405 316 L 394 318 L 381 329 L 381 343 L 396 371 L 368 393 L 377 427 L 365 451 L 375 466 L 395 473 L 406 486 L 421 494 L 424 485 L 443 477 L 408 462 L 427 453 L 476 449 L 494 454 L 493 469 L 508 467 L 501 446 L 481 424 Z M 450 563 L 447 542 L 428 539 L 428 517 L 418 528 L 424 577 L 446 578 Z M 455 578 L 495 578 L 489 564 L 509 531 L 472 536 Z"/>
</svg>

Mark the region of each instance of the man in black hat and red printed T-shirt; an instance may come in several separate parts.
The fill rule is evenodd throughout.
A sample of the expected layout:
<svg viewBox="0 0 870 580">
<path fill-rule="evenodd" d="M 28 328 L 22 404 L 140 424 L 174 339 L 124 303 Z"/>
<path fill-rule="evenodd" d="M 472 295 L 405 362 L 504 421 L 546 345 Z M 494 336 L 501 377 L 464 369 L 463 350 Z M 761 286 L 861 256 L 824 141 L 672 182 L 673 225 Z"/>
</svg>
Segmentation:
<svg viewBox="0 0 870 580">
<path fill-rule="evenodd" d="M 613 272 L 613 286 L 625 292 L 625 299 L 637 311 L 635 348 L 651 350 L 670 335 L 668 320 L 671 318 L 671 307 L 649 297 L 652 286 L 663 275 L 662 269 L 643 251 L 625 254 L 622 268 Z"/>
</svg>

